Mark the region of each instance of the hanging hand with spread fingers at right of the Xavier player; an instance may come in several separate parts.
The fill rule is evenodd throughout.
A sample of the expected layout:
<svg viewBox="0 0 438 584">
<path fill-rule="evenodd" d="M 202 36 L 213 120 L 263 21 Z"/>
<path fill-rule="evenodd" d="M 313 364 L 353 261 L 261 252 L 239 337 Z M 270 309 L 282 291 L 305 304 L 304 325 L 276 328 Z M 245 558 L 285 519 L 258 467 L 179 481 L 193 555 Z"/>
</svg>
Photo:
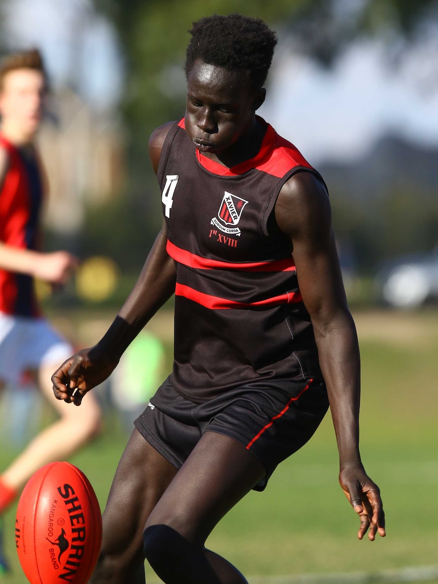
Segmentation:
<svg viewBox="0 0 438 584">
<path fill-rule="evenodd" d="M 368 538 L 374 541 L 376 532 L 385 537 L 385 513 L 380 498 L 380 489 L 367 476 L 361 464 L 345 465 L 339 472 L 339 484 L 360 517 L 357 537 L 361 540 L 368 531 Z"/>
</svg>

